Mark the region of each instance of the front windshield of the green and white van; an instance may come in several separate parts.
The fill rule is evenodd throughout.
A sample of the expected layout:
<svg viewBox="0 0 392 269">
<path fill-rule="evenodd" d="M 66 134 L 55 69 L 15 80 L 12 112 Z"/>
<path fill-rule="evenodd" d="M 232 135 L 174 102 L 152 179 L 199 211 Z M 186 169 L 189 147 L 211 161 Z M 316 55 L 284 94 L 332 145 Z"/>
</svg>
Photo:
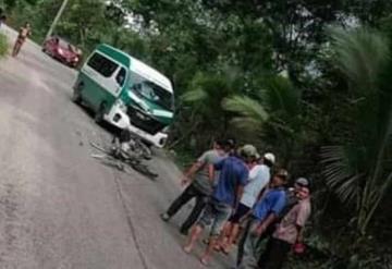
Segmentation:
<svg viewBox="0 0 392 269">
<path fill-rule="evenodd" d="M 132 74 L 132 78 L 131 90 L 136 95 L 169 111 L 174 110 L 174 96 L 170 91 L 135 73 Z"/>
</svg>

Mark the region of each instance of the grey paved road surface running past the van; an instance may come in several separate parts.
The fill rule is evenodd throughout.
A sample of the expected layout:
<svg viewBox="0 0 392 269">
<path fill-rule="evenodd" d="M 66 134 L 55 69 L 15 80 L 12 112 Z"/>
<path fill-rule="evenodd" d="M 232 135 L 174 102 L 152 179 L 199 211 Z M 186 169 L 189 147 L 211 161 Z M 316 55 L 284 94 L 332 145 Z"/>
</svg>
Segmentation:
<svg viewBox="0 0 392 269">
<path fill-rule="evenodd" d="M 89 142 L 110 135 L 70 100 L 75 77 L 30 41 L 0 60 L 0 268 L 204 268 L 201 246 L 182 252 L 188 208 L 159 219 L 180 193 L 176 167 L 158 156 L 151 182 L 93 159 Z M 229 265 L 217 255 L 210 268 Z"/>
</svg>

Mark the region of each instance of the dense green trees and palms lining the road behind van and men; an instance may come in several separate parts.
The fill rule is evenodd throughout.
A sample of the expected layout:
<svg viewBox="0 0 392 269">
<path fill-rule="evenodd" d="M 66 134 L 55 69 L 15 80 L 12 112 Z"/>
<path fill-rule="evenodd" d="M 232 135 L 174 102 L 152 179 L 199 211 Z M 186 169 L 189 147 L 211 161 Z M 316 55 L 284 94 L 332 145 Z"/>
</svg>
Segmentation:
<svg viewBox="0 0 392 269">
<path fill-rule="evenodd" d="M 0 5 L 41 42 L 61 2 Z M 71 0 L 57 34 L 85 56 L 111 44 L 173 81 L 168 148 L 182 164 L 234 136 L 313 179 L 308 255 L 291 268 L 392 267 L 391 1 L 110 3 Z"/>
</svg>

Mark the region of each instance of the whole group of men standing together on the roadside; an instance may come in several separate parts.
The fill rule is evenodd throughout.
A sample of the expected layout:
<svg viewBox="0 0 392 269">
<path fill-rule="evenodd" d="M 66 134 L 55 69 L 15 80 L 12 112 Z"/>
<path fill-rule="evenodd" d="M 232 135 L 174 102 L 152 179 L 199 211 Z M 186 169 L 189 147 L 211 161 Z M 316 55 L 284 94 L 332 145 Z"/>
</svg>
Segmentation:
<svg viewBox="0 0 392 269">
<path fill-rule="evenodd" d="M 253 145 L 236 147 L 234 139 L 216 140 L 184 173 L 186 188 L 161 213 L 169 221 L 185 204 L 195 205 L 180 232 L 192 253 L 209 228 L 200 261 L 215 252 L 229 254 L 237 245 L 233 268 L 279 269 L 291 250 L 304 252 L 303 232 L 310 216 L 310 182 L 298 178 L 290 187 L 289 172 L 277 168 L 275 156 L 258 154 Z"/>
</svg>

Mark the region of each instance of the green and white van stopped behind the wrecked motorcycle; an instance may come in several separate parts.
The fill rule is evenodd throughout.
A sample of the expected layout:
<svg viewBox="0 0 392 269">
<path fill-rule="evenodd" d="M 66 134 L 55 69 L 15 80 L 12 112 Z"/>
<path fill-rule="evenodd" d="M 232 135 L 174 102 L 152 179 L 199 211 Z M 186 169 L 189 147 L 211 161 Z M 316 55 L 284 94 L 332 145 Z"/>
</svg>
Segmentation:
<svg viewBox="0 0 392 269">
<path fill-rule="evenodd" d="M 108 45 L 88 57 L 74 84 L 73 100 L 102 120 L 163 147 L 173 120 L 174 94 L 161 73 Z"/>
</svg>

